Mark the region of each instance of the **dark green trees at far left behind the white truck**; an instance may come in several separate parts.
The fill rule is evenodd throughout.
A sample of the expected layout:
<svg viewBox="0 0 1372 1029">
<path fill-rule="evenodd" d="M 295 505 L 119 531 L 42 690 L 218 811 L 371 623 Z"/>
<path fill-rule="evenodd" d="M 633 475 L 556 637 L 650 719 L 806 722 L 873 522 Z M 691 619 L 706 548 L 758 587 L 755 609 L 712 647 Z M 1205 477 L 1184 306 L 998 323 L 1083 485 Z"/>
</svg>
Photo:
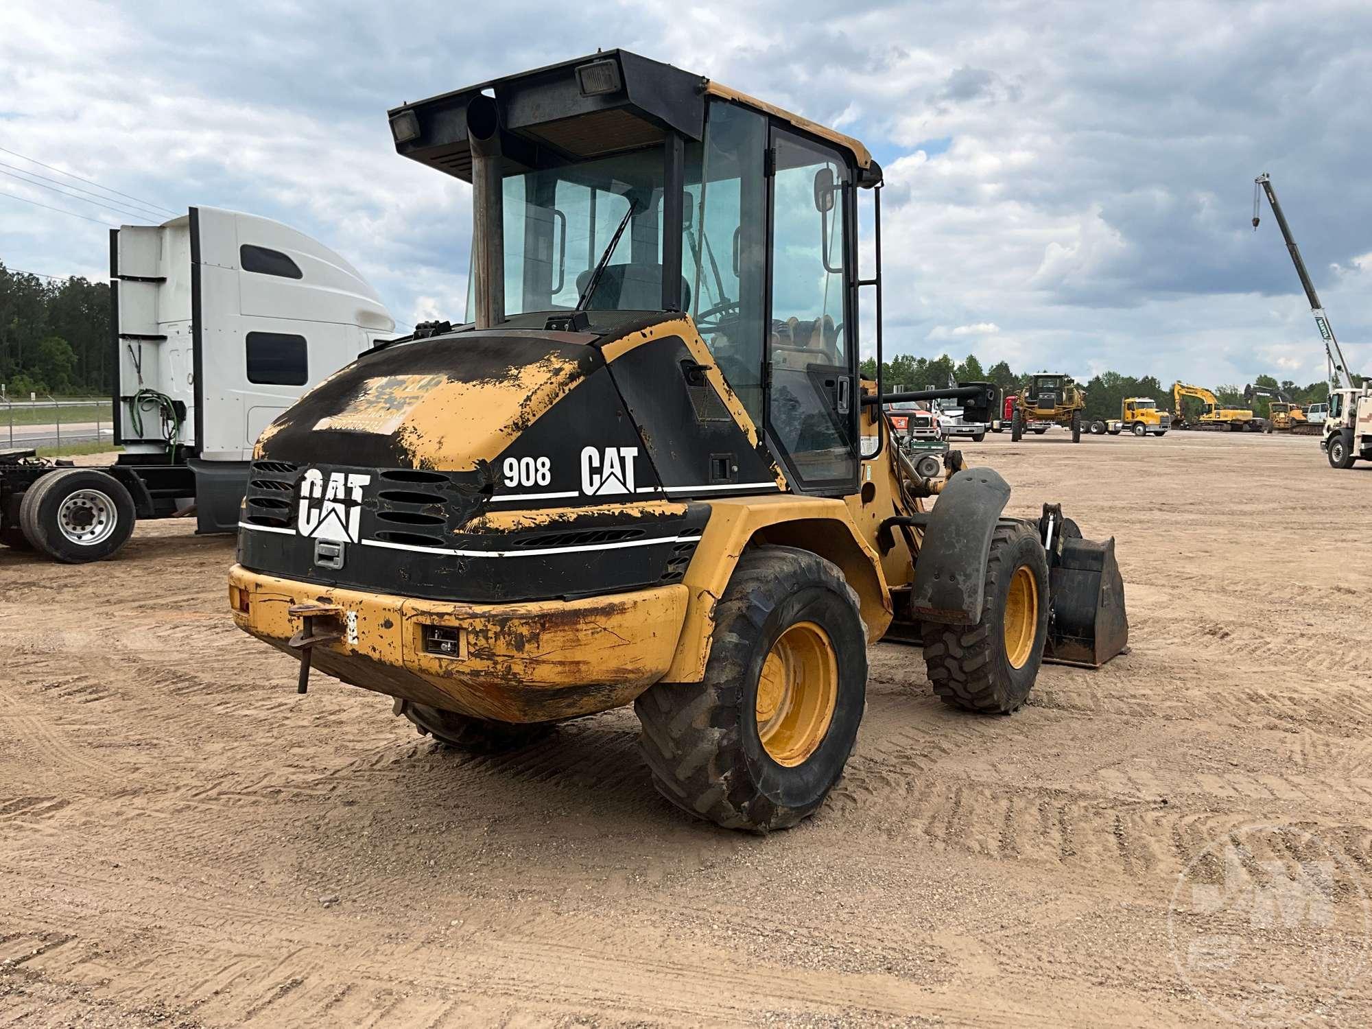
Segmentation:
<svg viewBox="0 0 1372 1029">
<path fill-rule="evenodd" d="M 5 395 L 113 392 L 110 287 L 44 279 L 0 262 L 0 383 Z"/>
</svg>

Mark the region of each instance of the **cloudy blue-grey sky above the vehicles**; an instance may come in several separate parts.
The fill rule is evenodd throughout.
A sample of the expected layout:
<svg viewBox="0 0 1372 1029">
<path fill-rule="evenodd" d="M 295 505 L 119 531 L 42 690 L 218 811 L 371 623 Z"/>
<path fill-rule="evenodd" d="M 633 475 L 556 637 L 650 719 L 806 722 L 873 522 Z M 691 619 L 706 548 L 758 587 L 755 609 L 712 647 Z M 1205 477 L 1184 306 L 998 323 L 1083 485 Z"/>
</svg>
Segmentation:
<svg viewBox="0 0 1372 1029">
<path fill-rule="evenodd" d="M 0 0 L 0 261 L 103 277 L 107 225 L 156 221 L 21 182 L 92 189 L 18 154 L 169 210 L 279 218 L 398 321 L 456 321 L 469 192 L 397 156 L 386 110 L 597 47 L 867 143 L 889 185 L 888 350 L 1318 380 L 1265 207 L 1250 228 L 1266 170 L 1350 364 L 1372 370 L 1365 1 Z"/>
</svg>

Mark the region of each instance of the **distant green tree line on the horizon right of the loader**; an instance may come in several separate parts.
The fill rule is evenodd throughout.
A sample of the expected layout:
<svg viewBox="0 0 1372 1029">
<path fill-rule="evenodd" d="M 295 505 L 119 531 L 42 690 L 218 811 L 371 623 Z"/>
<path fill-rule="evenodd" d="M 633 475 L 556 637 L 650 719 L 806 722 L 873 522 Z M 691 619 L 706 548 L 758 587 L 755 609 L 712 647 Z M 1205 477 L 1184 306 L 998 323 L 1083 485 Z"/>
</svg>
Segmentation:
<svg viewBox="0 0 1372 1029">
<path fill-rule="evenodd" d="M 877 361 L 874 358 L 863 361 L 862 373 L 874 379 Z M 948 354 L 940 354 L 934 358 L 896 354 L 890 361 L 882 362 L 882 386 L 886 390 L 941 387 L 947 386 L 951 379 L 956 383 L 995 383 L 1003 391 L 1018 392 L 1029 384 L 1033 375 L 1033 372 L 1017 373 L 1006 361 L 997 361 L 991 368 L 984 368 L 975 354 L 967 354 L 963 361 L 954 361 Z M 1159 407 L 1172 409 L 1172 383 L 1159 383 L 1151 375 L 1136 379 L 1120 372 L 1102 372 L 1088 381 L 1078 380 L 1077 384 L 1087 391 L 1087 418 L 1118 418 L 1125 397 L 1151 397 Z M 1323 403 L 1329 397 L 1329 384 L 1325 381 L 1297 386 L 1290 379 L 1277 381 L 1269 375 L 1259 375 L 1253 380 L 1253 386 L 1280 390 L 1291 398 L 1292 403 L 1301 405 Z M 1251 403 L 1244 403 L 1243 386 L 1224 384 L 1206 388 L 1222 405 L 1247 407 L 1259 418 L 1268 417 L 1269 399 L 1257 397 Z M 1202 406 L 1199 401 L 1187 397 L 1183 398 L 1183 403 L 1187 406 L 1187 413 L 1192 416 L 1199 413 Z"/>
</svg>

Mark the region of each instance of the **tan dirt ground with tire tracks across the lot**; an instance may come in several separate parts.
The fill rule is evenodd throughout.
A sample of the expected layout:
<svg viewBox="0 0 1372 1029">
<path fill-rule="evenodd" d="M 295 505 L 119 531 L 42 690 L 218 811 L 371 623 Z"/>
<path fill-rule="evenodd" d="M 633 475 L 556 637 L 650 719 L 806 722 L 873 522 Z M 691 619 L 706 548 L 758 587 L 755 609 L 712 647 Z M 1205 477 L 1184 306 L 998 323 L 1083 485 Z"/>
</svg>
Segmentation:
<svg viewBox="0 0 1372 1029">
<path fill-rule="evenodd" d="M 1372 466 L 966 450 L 1117 538 L 1132 652 L 975 718 L 878 645 L 767 838 L 659 800 L 631 711 L 475 759 L 298 697 L 188 523 L 0 549 L 0 1026 L 1372 1024 Z"/>
</svg>

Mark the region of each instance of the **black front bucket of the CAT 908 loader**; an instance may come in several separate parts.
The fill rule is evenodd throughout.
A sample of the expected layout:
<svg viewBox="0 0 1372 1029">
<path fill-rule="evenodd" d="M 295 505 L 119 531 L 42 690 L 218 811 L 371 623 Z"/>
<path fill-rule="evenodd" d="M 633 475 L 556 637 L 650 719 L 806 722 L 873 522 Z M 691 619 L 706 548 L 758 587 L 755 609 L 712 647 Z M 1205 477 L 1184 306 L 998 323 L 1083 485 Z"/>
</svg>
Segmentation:
<svg viewBox="0 0 1372 1029">
<path fill-rule="evenodd" d="M 1058 546 L 1048 569 L 1052 606 L 1043 659 L 1099 668 L 1129 643 L 1114 538 L 1063 538 Z"/>
</svg>

